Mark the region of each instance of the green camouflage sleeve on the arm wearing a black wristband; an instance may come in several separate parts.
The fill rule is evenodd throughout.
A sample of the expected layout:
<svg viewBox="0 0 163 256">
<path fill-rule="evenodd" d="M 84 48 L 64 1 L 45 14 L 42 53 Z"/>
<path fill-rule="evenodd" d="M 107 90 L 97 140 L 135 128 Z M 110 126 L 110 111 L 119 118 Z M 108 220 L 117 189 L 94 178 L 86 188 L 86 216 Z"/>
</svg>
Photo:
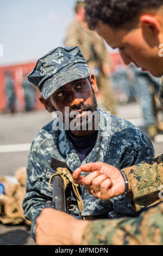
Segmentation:
<svg viewBox="0 0 163 256">
<path fill-rule="evenodd" d="M 163 191 L 163 155 L 141 162 L 135 166 L 124 168 L 137 211 L 162 200 Z"/>
</svg>

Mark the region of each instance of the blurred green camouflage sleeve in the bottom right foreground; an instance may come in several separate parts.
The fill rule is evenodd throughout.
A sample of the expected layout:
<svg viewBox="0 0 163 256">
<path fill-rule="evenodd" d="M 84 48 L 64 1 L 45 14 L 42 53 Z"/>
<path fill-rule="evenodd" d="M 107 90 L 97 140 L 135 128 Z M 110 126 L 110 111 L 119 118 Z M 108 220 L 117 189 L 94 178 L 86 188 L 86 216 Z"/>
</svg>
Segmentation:
<svg viewBox="0 0 163 256">
<path fill-rule="evenodd" d="M 143 211 L 139 217 L 90 221 L 82 245 L 162 245 L 163 203 Z"/>
</svg>

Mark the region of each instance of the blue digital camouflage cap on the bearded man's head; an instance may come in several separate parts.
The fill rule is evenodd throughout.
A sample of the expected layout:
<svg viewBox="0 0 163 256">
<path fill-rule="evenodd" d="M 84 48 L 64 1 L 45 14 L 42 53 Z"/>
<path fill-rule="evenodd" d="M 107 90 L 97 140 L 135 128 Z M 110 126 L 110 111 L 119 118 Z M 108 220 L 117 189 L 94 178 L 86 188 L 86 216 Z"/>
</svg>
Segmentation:
<svg viewBox="0 0 163 256">
<path fill-rule="evenodd" d="M 47 100 L 66 83 L 89 75 L 90 69 L 78 46 L 58 47 L 37 60 L 28 80 L 39 88 L 43 99 Z"/>
</svg>

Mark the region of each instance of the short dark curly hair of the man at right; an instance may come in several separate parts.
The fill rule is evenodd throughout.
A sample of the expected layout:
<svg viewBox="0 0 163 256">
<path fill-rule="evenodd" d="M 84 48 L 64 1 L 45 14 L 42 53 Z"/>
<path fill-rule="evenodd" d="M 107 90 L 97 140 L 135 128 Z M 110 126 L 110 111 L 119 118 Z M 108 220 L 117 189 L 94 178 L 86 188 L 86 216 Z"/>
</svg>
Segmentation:
<svg viewBox="0 0 163 256">
<path fill-rule="evenodd" d="M 90 29 L 99 21 L 112 28 L 132 22 L 142 11 L 163 7 L 163 0 L 85 0 L 85 20 Z"/>
</svg>

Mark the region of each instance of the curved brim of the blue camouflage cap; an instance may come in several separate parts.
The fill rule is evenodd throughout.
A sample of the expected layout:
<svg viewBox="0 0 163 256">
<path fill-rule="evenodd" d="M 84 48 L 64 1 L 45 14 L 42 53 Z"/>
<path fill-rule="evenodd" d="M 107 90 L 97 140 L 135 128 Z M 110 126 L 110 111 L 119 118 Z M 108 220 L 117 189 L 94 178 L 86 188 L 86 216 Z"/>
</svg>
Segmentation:
<svg viewBox="0 0 163 256">
<path fill-rule="evenodd" d="M 43 99 L 47 100 L 56 90 L 75 80 L 86 78 L 91 74 L 87 66 L 79 66 L 67 71 L 62 71 L 45 81 L 42 88 L 41 95 Z"/>
</svg>

